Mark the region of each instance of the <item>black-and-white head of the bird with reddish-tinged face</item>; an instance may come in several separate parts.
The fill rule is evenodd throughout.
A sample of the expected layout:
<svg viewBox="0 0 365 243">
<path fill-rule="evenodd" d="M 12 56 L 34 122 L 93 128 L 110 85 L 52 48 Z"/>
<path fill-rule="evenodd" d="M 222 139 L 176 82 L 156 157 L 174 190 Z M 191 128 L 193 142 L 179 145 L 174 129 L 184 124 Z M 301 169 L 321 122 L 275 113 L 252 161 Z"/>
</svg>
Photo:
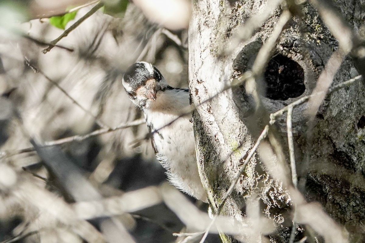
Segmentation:
<svg viewBox="0 0 365 243">
<path fill-rule="evenodd" d="M 142 109 L 158 98 L 158 91 L 168 87 L 161 72 L 148 62 L 136 62 L 130 66 L 122 83 L 131 101 Z"/>
</svg>

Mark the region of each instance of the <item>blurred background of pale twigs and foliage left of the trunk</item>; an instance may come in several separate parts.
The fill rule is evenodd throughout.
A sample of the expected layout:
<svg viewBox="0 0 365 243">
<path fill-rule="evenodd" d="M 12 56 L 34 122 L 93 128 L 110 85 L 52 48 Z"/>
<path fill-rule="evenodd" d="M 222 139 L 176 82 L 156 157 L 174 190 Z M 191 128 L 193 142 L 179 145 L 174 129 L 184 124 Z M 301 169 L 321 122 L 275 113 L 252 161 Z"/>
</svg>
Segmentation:
<svg viewBox="0 0 365 243">
<path fill-rule="evenodd" d="M 178 10 L 189 16 L 189 2 L 183 2 L 188 7 Z M 99 4 L 91 3 L 0 1 L 0 242 L 120 242 L 122 236 L 107 230 L 113 227 L 104 228 L 109 218 L 126 229 L 122 242 L 174 242 L 172 233 L 184 230 L 164 203 L 87 222 L 63 220 L 82 201 L 119 197 L 166 180 L 150 141 L 133 144 L 147 132 L 143 121 L 113 129 L 143 118 L 122 88 L 124 70 L 145 60 L 171 86 L 187 87 L 187 28 L 169 30 L 130 1 L 104 1 L 52 42 Z M 53 48 L 46 52 L 47 47 Z M 80 141 L 72 137 L 102 129 L 112 131 Z M 57 142 L 62 138 L 67 141 Z M 197 205 L 206 212 L 206 205 Z M 94 238 L 81 225 L 91 226 L 87 232 Z M 99 231 L 104 239 L 97 238 Z M 217 240 L 213 235 L 207 242 Z"/>
</svg>

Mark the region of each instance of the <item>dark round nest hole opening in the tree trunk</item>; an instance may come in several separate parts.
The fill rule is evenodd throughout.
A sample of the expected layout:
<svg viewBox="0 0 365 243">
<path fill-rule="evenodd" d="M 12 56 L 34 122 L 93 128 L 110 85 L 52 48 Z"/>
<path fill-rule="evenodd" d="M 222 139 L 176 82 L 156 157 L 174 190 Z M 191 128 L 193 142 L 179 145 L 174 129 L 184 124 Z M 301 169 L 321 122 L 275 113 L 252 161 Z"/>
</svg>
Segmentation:
<svg viewBox="0 0 365 243">
<path fill-rule="evenodd" d="M 299 97 L 306 90 L 303 68 L 281 54 L 270 59 L 265 78 L 266 97 L 269 99 L 284 101 Z"/>
</svg>

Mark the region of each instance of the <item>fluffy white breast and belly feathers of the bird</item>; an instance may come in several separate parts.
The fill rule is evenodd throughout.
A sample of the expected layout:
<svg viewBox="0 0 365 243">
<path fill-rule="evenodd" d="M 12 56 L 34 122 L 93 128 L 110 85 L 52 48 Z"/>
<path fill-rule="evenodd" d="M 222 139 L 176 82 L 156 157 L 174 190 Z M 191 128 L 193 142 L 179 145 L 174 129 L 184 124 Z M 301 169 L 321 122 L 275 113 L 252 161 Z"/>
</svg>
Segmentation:
<svg viewBox="0 0 365 243">
<path fill-rule="evenodd" d="M 153 105 L 144 113 L 151 132 L 157 130 L 153 134 L 157 159 L 167 170 L 173 185 L 205 201 L 206 194 L 197 170 L 193 124 L 189 121 L 192 116 L 179 117 L 189 103 L 164 102 L 162 107 L 156 102 Z"/>
</svg>

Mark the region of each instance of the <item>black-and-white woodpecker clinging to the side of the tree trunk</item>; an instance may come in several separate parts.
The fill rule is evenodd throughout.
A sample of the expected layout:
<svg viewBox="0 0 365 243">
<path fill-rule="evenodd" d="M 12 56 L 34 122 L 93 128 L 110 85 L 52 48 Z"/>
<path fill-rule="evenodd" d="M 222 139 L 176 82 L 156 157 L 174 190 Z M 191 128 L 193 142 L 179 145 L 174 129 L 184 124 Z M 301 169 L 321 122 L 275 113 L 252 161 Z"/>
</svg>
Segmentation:
<svg viewBox="0 0 365 243">
<path fill-rule="evenodd" d="M 189 107 L 189 90 L 169 86 L 152 64 L 136 62 L 123 76 L 131 101 L 145 114 L 153 149 L 170 182 L 189 195 L 206 201 L 196 163 L 191 115 L 176 119 Z"/>
</svg>

